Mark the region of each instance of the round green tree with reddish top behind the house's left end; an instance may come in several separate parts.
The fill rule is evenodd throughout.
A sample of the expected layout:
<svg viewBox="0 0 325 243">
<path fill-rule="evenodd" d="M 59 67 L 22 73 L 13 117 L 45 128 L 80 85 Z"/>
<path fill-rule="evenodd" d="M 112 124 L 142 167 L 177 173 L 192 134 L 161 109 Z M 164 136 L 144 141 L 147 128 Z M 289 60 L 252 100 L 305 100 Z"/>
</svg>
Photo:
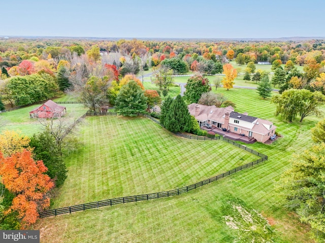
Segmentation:
<svg viewBox="0 0 325 243">
<path fill-rule="evenodd" d="M 198 103 L 203 93 L 209 92 L 209 79 L 202 75 L 191 76 L 187 79 L 184 98 L 189 103 Z"/>
</svg>

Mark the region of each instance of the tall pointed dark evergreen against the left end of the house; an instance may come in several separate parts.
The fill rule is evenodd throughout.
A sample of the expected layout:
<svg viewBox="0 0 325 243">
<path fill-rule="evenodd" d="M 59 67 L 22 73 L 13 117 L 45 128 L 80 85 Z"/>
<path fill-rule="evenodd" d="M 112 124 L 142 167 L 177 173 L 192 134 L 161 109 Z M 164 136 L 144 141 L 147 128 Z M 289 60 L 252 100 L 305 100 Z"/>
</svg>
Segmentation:
<svg viewBox="0 0 325 243">
<path fill-rule="evenodd" d="M 173 133 L 189 132 L 192 127 L 191 116 L 183 98 L 178 95 L 173 100 L 165 120 L 165 128 Z"/>
</svg>

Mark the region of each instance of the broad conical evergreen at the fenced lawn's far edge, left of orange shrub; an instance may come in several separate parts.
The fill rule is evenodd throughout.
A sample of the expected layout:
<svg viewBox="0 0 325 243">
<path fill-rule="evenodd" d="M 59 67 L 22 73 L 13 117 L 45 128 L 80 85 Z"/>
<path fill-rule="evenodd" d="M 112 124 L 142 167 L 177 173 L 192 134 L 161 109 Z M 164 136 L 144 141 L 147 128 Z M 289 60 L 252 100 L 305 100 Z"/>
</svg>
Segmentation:
<svg viewBox="0 0 325 243">
<path fill-rule="evenodd" d="M 137 113 L 144 113 L 147 108 L 147 98 L 141 87 L 134 80 L 130 80 L 122 86 L 115 101 L 117 113 L 128 116 L 135 116 Z"/>
</svg>

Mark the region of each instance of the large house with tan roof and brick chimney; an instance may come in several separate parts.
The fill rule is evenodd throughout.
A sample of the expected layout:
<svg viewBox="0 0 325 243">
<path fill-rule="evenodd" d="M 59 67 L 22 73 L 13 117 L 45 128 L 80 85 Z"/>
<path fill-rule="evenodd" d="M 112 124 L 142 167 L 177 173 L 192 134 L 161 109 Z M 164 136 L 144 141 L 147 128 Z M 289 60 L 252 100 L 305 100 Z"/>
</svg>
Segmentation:
<svg viewBox="0 0 325 243">
<path fill-rule="evenodd" d="M 188 105 L 188 110 L 191 115 L 196 117 L 200 127 L 210 127 L 211 125 L 212 131 L 215 133 L 218 133 L 219 129 L 247 136 L 262 143 L 268 141 L 275 134 L 276 127 L 271 121 L 249 116 L 247 113 L 235 112 L 232 106 L 217 108 L 214 105 L 193 103 Z"/>
</svg>

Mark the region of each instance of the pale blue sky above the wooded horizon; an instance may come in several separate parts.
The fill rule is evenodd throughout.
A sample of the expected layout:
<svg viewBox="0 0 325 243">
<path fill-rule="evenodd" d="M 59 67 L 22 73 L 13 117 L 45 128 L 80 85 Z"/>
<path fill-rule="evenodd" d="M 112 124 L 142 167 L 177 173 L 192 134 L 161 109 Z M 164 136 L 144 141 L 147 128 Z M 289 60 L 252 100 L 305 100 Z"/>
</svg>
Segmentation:
<svg viewBox="0 0 325 243">
<path fill-rule="evenodd" d="M 10 0 L 0 36 L 323 37 L 323 0 Z"/>
</svg>

